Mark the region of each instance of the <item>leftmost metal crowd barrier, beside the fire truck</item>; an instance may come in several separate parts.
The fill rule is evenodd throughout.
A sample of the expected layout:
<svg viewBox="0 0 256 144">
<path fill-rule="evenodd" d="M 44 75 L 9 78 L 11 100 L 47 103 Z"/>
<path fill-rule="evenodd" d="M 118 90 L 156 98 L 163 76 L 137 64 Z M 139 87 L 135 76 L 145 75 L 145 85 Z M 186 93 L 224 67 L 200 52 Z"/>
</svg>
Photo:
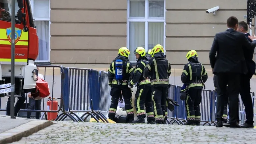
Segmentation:
<svg viewBox="0 0 256 144">
<path fill-rule="evenodd" d="M 35 110 L 35 105 L 34 105 L 34 109 L 30 110 L 27 109 L 28 105 L 29 105 L 29 98 L 27 93 L 25 93 L 26 96 L 26 100 L 24 102 L 24 104 L 22 105 L 21 109 L 19 110 L 17 116 L 18 117 L 27 117 L 27 112 L 31 112 L 31 116 L 30 117 L 34 117 L 35 116 L 35 112 L 40 112 L 40 119 L 43 119 L 45 117 L 45 120 L 48 120 L 47 118 L 47 113 L 52 112 L 52 113 L 59 113 L 60 111 L 62 111 L 62 106 L 63 106 L 63 83 L 64 83 L 64 70 L 61 66 L 57 66 L 57 65 L 37 65 L 37 67 L 39 68 L 44 68 L 44 74 L 42 74 L 44 76 L 44 80 L 48 82 L 49 87 L 50 87 L 50 95 L 49 97 L 51 97 L 52 99 L 60 99 L 60 103 L 58 103 L 58 110 L 52 110 L 53 107 L 45 107 L 45 104 L 48 100 L 49 97 L 46 97 L 44 99 L 42 99 L 41 102 L 41 110 Z M 51 75 L 46 75 L 46 69 L 47 68 L 52 68 L 52 74 Z M 60 69 L 60 80 L 58 80 L 58 77 L 56 77 L 55 75 L 55 71 L 56 69 L 59 68 Z M 47 72 L 49 73 L 49 72 Z M 52 77 L 49 79 L 49 77 Z M 54 85 L 59 85 L 60 88 L 55 88 Z M 56 96 L 57 95 L 57 96 Z M 19 98 L 18 98 L 19 99 Z M 6 111 L 6 105 L 2 105 L 2 102 L 8 101 L 8 97 L 4 97 L 4 98 L 0 98 L 0 111 Z M 53 102 L 51 104 L 53 106 Z M 42 114 L 41 114 L 42 112 Z"/>
</svg>

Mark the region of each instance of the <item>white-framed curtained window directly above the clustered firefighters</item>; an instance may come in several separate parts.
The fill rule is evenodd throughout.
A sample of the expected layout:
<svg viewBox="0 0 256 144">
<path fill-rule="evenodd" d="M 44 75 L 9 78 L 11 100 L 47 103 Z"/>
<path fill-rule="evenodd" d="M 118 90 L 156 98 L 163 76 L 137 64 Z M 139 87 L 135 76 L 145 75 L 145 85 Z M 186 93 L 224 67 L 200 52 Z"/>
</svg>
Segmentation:
<svg viewBox="0 0 256 144">
<path fill-rule="evenodd" d="M 161 44 L 165 48 L 165 0 L 127 0 L 127 48 L 130 61 L 133 51 L 144 47 L 147 51 Z"/>
</svg>

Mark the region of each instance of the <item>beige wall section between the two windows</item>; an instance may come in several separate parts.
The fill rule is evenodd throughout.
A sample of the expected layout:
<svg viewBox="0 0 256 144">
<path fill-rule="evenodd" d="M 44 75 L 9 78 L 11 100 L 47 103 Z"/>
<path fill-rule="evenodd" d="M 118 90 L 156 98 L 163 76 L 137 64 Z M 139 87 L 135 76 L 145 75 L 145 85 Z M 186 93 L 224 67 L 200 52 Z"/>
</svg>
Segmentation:
<svg viewBox="0 0 256 144">
<path fill-rule="evenodd" d="M 51 0 L 51 63 L 110 63 L 126 46 L 126 9 L 126 0 Z"/>
</svg>

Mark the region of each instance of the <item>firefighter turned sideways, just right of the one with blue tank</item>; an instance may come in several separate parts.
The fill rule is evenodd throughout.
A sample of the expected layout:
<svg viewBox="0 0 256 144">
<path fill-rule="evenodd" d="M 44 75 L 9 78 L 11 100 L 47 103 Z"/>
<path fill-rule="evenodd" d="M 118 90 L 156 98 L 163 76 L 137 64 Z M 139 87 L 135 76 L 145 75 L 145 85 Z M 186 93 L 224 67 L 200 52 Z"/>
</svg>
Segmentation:
<svg viewBox="0 0 256 144">
<path fill-rule="evenodd" d="M 134 75 L 132 80 L 129 82 L 128 87 L 132 88 L 134 84 L 137 83 L 137 91 L 135 94 L 134 105 L 137 112 L 137 120 L 134 120 L 133 123 L 145 123 L 145 117 L 147 114 L 148 124 L 153 124 L 154 122 L 154 112 L 152 108 L 151 100 L 151 84 L 149 77 L 143 77 L 143 70 L 147 65 L 146 51 L 143 47 L 137 47 L 134 50 L 136 55 L 137 65 L 134 70 Z M 144 110 L 144 104 L 146 107 L 146 112 Z"/>
</svg>

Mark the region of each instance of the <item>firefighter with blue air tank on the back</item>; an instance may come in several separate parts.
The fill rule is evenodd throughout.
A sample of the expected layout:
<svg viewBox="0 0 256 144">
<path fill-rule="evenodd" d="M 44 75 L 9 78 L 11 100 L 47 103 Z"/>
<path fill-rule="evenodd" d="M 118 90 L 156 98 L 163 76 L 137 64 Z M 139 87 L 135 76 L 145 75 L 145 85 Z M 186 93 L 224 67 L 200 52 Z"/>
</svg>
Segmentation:
<svg viewBox="0 0 256 144">
<path fill-rule="evenodd" d="M 126 47 L 121 47 L 118 50 L 118 56 L 111 62 L 108 69 L 108 84 L 111 87 L 110 95 L 112 97 L 108 117 L 109 119 L 114 120 L 118 100 L 119 98 L 122 98 L 122 92 L 125 102 L 125 110 L 127 113 L 126 122 L 132 123 L 134 120 L 134 113 L 132 108 L 132 92 L 131 89 L 128 88 L 128 82 L 130 74 L 134 69 L 128 59 L 129 54 L 130 51 Z M 120 60 L 122 61 L 121 63 Z M 116 61 L 118 61 L 118 63 L 116 63 Z M 121 67 L 118 66 L 120 64 Z M 119 80 L 120 77 L 121 80 Z M 117 78 L 118 80 L 116 80 Z"/>
</svg>

